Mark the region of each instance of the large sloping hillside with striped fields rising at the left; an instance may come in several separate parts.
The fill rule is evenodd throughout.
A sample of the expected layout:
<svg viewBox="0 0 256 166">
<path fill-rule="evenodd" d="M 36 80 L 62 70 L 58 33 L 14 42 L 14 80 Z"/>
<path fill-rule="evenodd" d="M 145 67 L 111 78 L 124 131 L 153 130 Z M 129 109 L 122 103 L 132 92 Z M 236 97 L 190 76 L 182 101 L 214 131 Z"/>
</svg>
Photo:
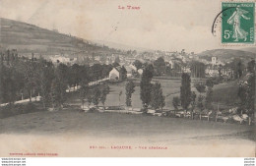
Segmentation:
<svg viewBox="0 0 256 166">
<path fill-rule="evenodd" d="M 22 53 L 36 52 L 42 55 L 74 53 L 78 51 L 108 52 L 108 47 L 59 33 L 56 30 L 38 28 L 23 22 L 0 18 L 0 48 L 18 49 Z M 113 51 L 113 49 L 112 49 Z"/>
</svg>

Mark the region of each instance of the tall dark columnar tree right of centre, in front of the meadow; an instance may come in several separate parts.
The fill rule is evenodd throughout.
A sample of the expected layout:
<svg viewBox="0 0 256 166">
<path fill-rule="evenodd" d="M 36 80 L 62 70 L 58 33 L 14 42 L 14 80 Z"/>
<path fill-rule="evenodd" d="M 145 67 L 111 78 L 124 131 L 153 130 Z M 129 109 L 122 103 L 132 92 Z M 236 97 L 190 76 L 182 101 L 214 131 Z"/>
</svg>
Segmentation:
<svg viewBox="0 0 256 166">
<path fill-rule="evenodd" d="M 182 108 L 187 111 L 187 108 L 191 102 L 191 86 L 190 76 L 188 74 L 182 74 L 181 86 L 180 86 L 180 101 Z"/>
</svg>

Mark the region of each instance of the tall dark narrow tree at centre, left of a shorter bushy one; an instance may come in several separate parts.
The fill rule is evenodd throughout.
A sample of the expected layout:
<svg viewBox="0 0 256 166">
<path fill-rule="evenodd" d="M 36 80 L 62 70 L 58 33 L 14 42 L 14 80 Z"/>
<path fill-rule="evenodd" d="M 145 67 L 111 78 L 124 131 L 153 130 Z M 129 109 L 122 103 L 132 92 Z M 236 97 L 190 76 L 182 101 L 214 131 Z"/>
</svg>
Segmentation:
<svg viewBox="0 0 256 166">
<path fill-rule="evenodd" d="M 145 110 L 147 110 L 147 108 L 151 102 L 152 78 L 153 78 L 152 67 L 149 65 L 143 71 L 142 79 L 141 79 L 141 83 L 140 83 L 141 100 L 142 100 L 142 104 L 143 104 L 143 107 L 145 108 Z"/>
</svg>

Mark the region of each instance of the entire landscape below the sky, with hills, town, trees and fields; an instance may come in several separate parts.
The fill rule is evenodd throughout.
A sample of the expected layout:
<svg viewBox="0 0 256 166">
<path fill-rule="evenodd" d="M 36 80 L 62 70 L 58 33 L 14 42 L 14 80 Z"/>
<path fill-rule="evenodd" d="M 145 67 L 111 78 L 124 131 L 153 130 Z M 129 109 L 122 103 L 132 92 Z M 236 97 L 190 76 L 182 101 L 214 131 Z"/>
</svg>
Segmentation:
<svg viewBox="0 0 256 166">
<path fill-rule="evenodd" d="M 253 49 L 123 49 L 0 23 L 0 139 L 255 144 Z"/>
</svg>

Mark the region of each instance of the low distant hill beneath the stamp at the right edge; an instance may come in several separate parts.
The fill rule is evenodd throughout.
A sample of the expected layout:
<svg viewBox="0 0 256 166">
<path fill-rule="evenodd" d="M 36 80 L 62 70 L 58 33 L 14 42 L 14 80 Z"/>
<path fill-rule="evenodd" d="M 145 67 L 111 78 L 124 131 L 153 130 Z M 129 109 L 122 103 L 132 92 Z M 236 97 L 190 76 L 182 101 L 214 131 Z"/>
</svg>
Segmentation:
<svg viewBox="0 0 256 166">
<path fill-rule="evenodd" d="M 210 60 L 211 57 L 215 56 L 223 62 L 229 62 L 234 58 L 240 58 L 245 62 L 248 62 L 251 58 L 256 58 L 256 53 L 236 49 L 213 49 L 199 53 L 198 56 L 207 60 Z"/>
</svg>

